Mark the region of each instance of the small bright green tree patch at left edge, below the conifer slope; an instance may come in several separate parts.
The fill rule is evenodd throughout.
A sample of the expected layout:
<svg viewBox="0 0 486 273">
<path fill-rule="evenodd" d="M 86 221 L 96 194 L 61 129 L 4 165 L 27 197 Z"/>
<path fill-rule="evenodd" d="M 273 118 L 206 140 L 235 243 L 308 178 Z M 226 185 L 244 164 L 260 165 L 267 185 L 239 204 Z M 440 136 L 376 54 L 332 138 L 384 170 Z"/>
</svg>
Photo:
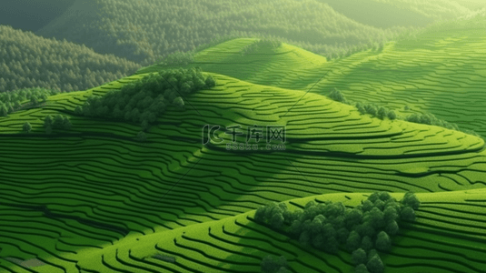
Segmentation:
<svg viewBox="0 0 486 273">
<path fill-rule="evenodd" d="M 57 93 L 59 91 L 44 88 L 25 88 L 0 93 L 0 116 L 7 116 L 25 106 L 35 106 L 41 101 L 45 102 L 47 96 Z M 30 102 L 22 105 L 25 100 Z"/>
</svg>

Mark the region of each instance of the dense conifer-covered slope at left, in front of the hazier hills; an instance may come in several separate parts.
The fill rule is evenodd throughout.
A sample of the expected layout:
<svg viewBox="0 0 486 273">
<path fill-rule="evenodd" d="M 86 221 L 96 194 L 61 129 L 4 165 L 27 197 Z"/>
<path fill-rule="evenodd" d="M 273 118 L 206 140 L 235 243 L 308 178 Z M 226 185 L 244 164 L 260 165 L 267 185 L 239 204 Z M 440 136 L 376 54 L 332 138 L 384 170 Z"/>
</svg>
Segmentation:
<svg viewBox="0 0 486 273">
<path fill-rule="evenodd" d="M 85 45 L 36 36 L 0 25 L 0 93 L 42 87 L 85 90 L 133 74 L 140 65 L 100 55 Z"/>
</svg>

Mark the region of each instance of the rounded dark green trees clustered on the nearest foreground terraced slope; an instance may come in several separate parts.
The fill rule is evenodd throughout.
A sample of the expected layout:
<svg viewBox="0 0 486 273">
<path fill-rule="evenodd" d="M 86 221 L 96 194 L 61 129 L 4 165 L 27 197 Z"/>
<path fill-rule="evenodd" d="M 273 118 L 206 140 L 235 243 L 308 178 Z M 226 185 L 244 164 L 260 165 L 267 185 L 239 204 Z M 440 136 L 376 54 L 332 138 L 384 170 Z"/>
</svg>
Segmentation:
<svg viewBox="0 0 486 273">
<path fill-rule="evenodd" d="M 400 202 L 386 192 L 375 192 L 354 208 L 311 201 L 303 209 L 290 211 L 285 203 L 273 202 L 259 207 L 254 220 L 285 232 L 305 247 L 336 253 L 341 245 L 345 246 L 352 253 L 356 272 L 382 273 L 384 266 L 378 251 L 390 251 L 399 224 L 414 221 L 419 206 L 412 192 Z"/>
</svg>

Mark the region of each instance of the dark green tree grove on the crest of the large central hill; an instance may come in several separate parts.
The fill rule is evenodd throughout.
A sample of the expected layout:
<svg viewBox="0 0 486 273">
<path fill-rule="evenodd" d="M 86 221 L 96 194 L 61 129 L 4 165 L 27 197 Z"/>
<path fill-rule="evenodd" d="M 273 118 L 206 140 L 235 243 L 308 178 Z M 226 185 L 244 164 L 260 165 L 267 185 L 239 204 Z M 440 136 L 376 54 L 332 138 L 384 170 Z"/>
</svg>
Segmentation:
<svg viewBox="0 0 486 273">
<path fill-rule="evenodd" d="M 74 114 L 130 121 L 147 130 L 167 106 L 183 110 L 181 96 L 215 85 L 212 76 L 204 78 L 200 67 L 164 70 L 105 96 L 90 96 L 83 106 L 76 106 Z"/>
</svg>

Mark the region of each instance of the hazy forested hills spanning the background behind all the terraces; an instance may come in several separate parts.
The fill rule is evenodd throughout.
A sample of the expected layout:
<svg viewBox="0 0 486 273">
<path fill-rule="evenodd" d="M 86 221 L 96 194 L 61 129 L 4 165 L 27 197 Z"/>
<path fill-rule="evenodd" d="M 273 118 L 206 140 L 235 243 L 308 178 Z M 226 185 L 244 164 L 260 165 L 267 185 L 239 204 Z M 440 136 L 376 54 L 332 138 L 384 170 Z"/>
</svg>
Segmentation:
<svg viewBox="0 0 486 273">
<path fill-rule="evenodd" d="M 230 37 L 277 37 L 334 59 L 379 48 L 483 5 L 474 0 L 5 0 L 0 25 L 15 30 L 0 29 L 0 92 L 31 86 L 83 90 L 174 52 Z"/>
</svg>

